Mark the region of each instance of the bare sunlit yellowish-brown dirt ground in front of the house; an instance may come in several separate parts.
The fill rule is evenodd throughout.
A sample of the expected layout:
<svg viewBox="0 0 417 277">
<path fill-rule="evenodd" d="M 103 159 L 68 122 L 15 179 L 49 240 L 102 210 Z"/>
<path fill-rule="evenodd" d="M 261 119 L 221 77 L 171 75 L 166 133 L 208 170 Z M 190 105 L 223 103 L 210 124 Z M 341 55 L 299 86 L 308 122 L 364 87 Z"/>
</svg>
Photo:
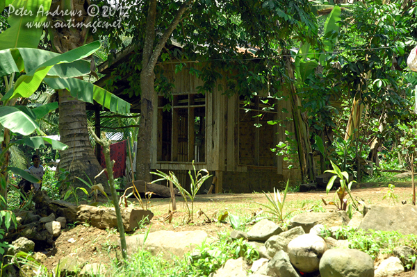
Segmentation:
<svg viewBox="0 0 417 277">
<path fill-rule="evenodd" d="M 398 202 L 396 204 L 402 205 L 401 201 L 411 203 L 411 183 L 394 183 L 394 185 L 395 195 L 398 196 Z M 380 183 L 359 184 L 359 188 L 352 190 L 352 196 L 365 203 L 393 205 L 392 199 L 383 200 L 387 192 L 386 186 L 387 184 Z M 318 208 L 319 206 L 324 207 L 321 199 L 324 198 L 329 201 L 333 199 L 333 196 L 334 191 L 330 192 L 329 195 L 325 191 L 288 193 L 286 196 L 286 212 L 314 210 L 314 208 Z M 129 201 L 138 205 L 136 199 L 129 199 Z M 250 220 L 261 208 L 261 205 L 258 203 L 266 202 L 264 194 L 261 193 L 199 195 L 195 200 L 194 211 L 196 213 L 202 210 L 209 218 L 218 217 L 218 215 L 227 211 L 230 214 Z M 150 228 L 151 232 L 156 230 L 204 230 L 209 235 L 215 237 L 218 232 L 232 230 L 229 223 L 207 223 L 204 215 L 200 217 L 195 216 L 193 224 L 184 224 L 187 219 L 187 213 L 181 198 L 177 198 L 178 212 L 174 213 L 171 224 L 164 221 L 168 215 L 168 210 L 172 210 L 169 199 L 150 199 L 147 203 L 147 208 L 154 212 L 154 218 L 151 224 L 143 226 L 143 228 L 136 230 L 133 234 L 144 233 Z M 332 209 L 331 206 L 325 206 L 324 208 Z M 116 230 L 100 230 L 88 226 L 88 223 L 75 227 L 70 226 L 70 228 L 63 230 L 62 235 L 56 240 L 53 249 L 46 249 L 44 251 L 48 256 L 44 265 L 48 269 L 53 269 L 58 265 L 59 260 L 66 255 L 72 255 L 83 262 L 101 262 L 108 264 L 112 260 L 115 260 L 116 257 L 120 257 L 117 237 Z M 414 276 L 414 271 L 405 272 L 398 276 L 411 277 Z"/>
</svg>

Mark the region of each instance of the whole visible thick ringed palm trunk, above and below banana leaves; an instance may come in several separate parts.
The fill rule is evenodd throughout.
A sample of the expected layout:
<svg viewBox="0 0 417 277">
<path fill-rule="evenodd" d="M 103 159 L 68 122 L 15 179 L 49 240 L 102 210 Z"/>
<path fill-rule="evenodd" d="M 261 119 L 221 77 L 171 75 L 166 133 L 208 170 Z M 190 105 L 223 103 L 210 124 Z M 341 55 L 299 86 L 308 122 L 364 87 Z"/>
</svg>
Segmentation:
<svg viewBox="0 0 417 277">
<path fill-rule="evenodd" d="M 74 10 L 74 15 L 65 17 L 65 20 L 86 24 L 92 21 L 92 17 L 85 12 L 89 5 L 89 1 L 85 0 L 60 0 L 51 4 L 51 10 Z M 78 12 L 80 10 L 83 11 L 81 17 Z M 62 19 L 57 17 L 51 20 L 55 22 Z M 92 41 L 92 37 L 88 37 L 88 28 L 49 28 L 49 34 L 53 49 L 58 53 L 65 53 Z M 85 180 L 85 174 L 90 180 L 94 180 L 101 171 L 101 166 L 90 144 L 85 103 L 74 99 L 67 90 L 59 90 L 58 96 L 60 141 L 69 146 L 69 149 L 60 153 L 59 168 L 70 171 L 70 181 L 76 181 L 76 176 Z M 106 176 L 99 176 L 97 183 L 106 184 Z M 85 187 L 81 181 L 74 184 Z M 109 192 L 108 185 L 104 187 Z"/>
</svg>

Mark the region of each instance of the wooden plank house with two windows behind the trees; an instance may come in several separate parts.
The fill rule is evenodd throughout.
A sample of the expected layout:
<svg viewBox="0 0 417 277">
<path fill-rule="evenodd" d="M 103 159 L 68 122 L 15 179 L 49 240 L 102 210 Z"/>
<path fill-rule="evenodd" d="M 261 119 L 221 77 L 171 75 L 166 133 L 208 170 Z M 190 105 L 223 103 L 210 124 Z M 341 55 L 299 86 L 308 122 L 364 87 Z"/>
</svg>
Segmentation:
<svg viewBox="0 0 417 277">
<path fill-rule="evenodd" d="M 131 51 L 124 51 L 111 65 L 101 65 L 99 71 L 106 76 L 96 84 L 103 86 Z M 287 169 L 283 158 L 270 150 L 286 137 L 283 127 L 268 121 L 287 121 L 286 129 L 293 131 L 292 121 L 287 120 L 292 117 L 288 100 L 275 99 L 268 92 L 256 92 L 250 102 L 238 92 L 231 97 L 219 90 L 199 94 L 197 87 L 203 82 L 188 70 L 176 74 L 172 63 L 157 66 L 164 67 L 164 76 L 174 88 L 170 110 L 163 108 L 168 100 L 158 95 L 151 134 L 152 169 L 174 171 L 181 184 L 188 184 L 194 160 L 197 170 L 204 168 L 218 177 L 216 193 L 272 191 L 273 187 L 281 188 L 288 178 L 300 178 L 299 170 Z M 226 87 L 227 74 L 222 75 L 219 83 Z M 129 86 L 127 78 L 116 86 L 113 93 L 132 103 L 132 111 L 138 112 L 140 99 L 120 94 Z M 209 180 L 202 191 L 210 185 Z"/>
</svg>

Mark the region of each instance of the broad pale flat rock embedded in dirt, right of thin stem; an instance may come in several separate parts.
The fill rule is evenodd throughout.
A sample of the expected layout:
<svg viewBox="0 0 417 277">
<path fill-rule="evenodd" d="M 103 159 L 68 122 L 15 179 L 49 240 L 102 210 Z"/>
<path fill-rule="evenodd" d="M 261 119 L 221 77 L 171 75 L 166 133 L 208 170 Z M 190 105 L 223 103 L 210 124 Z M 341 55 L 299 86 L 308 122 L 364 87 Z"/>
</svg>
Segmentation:
<svg viewBox="0 0 417 277">
<path fill-rule="evenodd" d="M 144 234 L 140 234 L 126 237 L 128 255 L 142 249 L 144 236 Z M 211 240 L 202 230 L 184 232 L 160 230 L 148 234 L 144 249 L 152 255 L 163 253 L 163 258 L 169 260 L 171 255 L 182 258 L 185 253 L 193 251 L 197 245 L 202 245 L 204 241 L 208 244 Z"/>
</svg>

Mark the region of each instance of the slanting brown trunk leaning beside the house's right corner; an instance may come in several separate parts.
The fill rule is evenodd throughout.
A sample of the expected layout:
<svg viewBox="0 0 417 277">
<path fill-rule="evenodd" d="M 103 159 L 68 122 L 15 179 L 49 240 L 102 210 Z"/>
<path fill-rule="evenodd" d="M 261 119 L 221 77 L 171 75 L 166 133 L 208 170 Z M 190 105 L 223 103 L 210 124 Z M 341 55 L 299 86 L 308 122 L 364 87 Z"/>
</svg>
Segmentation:
<svg viewBox="0 0 417 277">
<path fill-rule="evenodd" d="M 290 58 L 286 59 L 286 69 L 288 77 L 291 80 L 294 80 L 294 69 Z M 300 110 L 301 99 L 297 95 L 297 90 L 295 89 L 294 84 L 289 81 L 288 86 L 291 109 L 293 110 L 295 138 L 298 146 L 298 157 L 300 158 L 302 181 L 304 181 L 304 179 L 316 181 L 316 165 L 313 158 L 313 150 L 311 149 L 310 144 L 309 126 L 306 122 L 306 114 Z"/>
</svg>

